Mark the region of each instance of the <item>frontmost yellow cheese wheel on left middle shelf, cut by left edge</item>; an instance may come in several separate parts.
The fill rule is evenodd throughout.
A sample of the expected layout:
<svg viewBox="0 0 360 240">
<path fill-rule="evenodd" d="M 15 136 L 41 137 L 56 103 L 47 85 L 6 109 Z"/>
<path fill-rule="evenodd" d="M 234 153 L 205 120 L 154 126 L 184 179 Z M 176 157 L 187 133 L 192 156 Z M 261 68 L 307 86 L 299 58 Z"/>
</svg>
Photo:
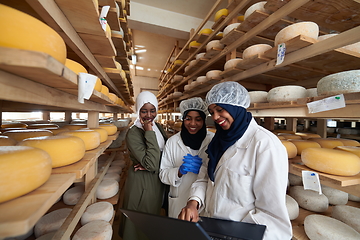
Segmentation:
<svg viewBox="0 0 360 240">
<path fill-rule="evenodd" d="M 0 203 L 44 184 L 51 175 L 51 158 L 44 150 L 24 146 L 0 147 Z"/>
</svg>

